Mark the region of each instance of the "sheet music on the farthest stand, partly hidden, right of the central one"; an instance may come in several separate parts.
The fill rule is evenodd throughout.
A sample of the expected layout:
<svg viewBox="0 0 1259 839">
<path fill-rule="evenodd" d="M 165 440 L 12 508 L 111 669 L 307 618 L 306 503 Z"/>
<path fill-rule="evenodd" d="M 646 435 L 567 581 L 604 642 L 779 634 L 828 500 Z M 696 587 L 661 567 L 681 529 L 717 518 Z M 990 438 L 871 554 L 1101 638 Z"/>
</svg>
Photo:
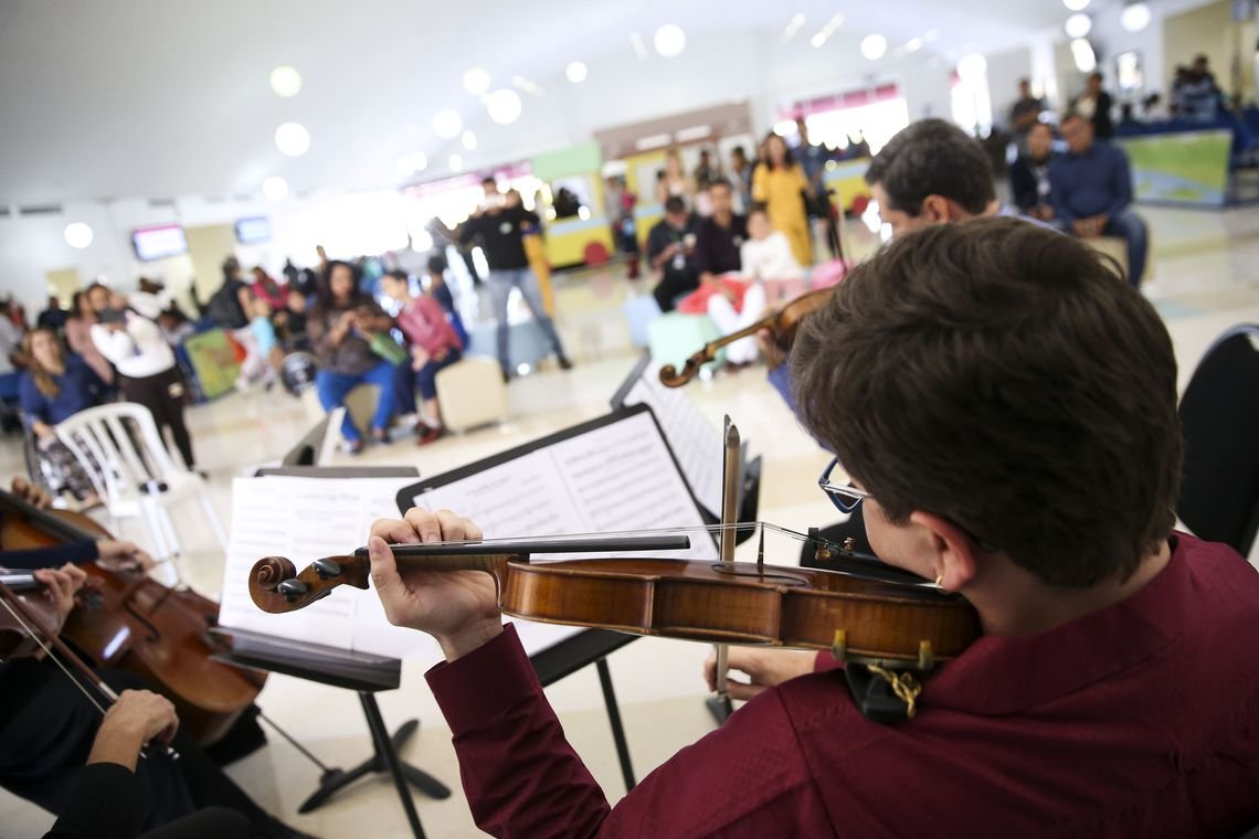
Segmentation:
<svg viewBox="0 0 1259 839">
<path fill-rule="evenodd" d="M 721 433 L 681 387 L 660 384 L 660 365 L 648 364 L 626 394 L 624 404 L 648 405 L 665 431 L 696 501 L 721 516 Z"/>
</svg>

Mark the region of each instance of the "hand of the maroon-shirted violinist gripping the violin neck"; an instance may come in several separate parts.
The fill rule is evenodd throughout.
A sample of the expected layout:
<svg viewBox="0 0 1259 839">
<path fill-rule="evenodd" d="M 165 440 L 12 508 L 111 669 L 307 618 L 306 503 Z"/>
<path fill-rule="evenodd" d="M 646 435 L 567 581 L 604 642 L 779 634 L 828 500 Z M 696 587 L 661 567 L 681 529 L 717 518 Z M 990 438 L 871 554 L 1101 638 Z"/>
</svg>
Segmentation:
<svg viewBox="0 0 1259 839">
<path fill-rule="evenodd" d="M 481 538 L 481 528 L 448 509 L 437 514 L 413 507 L 405 521 L 381 518 L 371 526 L 368 553 L 371 582 L 389 623 L 428 633 L 446 660 L 467 655 L 502 631 L 494 577 L 483 571 L 402 571 L 389 543 Z"/>
</svg>

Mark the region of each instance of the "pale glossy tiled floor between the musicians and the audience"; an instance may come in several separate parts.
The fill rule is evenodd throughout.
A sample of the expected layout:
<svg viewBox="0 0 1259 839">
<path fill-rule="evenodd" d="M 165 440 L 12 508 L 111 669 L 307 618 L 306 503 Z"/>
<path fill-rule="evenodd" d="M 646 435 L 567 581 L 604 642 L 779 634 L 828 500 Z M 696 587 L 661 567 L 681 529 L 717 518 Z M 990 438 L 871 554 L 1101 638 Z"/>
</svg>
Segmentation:
<svg viewBox="0 0 1259 839">
<path fill-rule="evenodd" d="M 1183 386 L 1219 332 L 1234 323 L 1259 322 L 1259 213 L 1144 213 L 1155 242 L 1155 272 L 1146 291 L 1167 319 Z M 371 448 L 356 463 L 408 463 L 423 474 L 437 474 L 606 413 L 608 397 L 633 362 L 619 314 L 626 293 L 633 292 L 611 277 L 559 289 L 562 332 L 580 364 L 569 374 L 543 371 L 515 381 L 507 425 L 449 436 L 423 449 L 403 443 Z M 812 486 L 827 457 L 796 429 L 762 370 L 695 382 L 687 392 L 714 424 L 729 413 L 752 452 L 764 455 L 763 520 L 796 530 L 833 520 L 833 508 Z M 215 506 L 225 520 L 230 478 L 251 464 L 279 457 L 308 426 L 310 418 L 297 400 L 273 392 L 234 395 L 194 408 L 190 421 L 199 459 L 212 473 Z M 5 439 L 0 443 L 0 475 L 21 468 L 19 448 L 13 438 Z M 213 535 L 194 511 L 176 521 L 186 545 L 213 545 Z M 126 528 L 125 536 L 141 535 Z M 776 551 L 782 561 L 794 562 L 796 551 L 789 545 L 772 548 Z M 223 561 L 215 550 L 193 551 L 184 570 L 206 594 L 215 594 L 222 585 Z M 697 644 L 641 639 L 609 659 L 640 776 L 711 728 L 700 679 L 706 652 Z M 616 800 L 623 785 L 596 674 L 572 675 L 549 689 L 549 696 L 578 752 Z M 327 764 L 353 765 L 369 748 L 353 693 L 273 675 L 259 704 Z M 404 668 L 402 688 L 381 694 L 380 704 L 392 726 L 409 717 L 422 720 L 404 757 L 457 787 L 448 731 L 419 668 Z M 233 766 L 230 775 L 264 806 L 310 833 L 405 835 L 393 787 L 384 780 L 363 781 L 315 814 L 297 816 L 296 806 L 313 789 L 319 770 L 279 737 Z M 417 796 L 417 804 L 429 836 L 480 835 L 458 792 L 447 801 Z M 47 814 L 0 794 L 0 833 L 6 839 L 39 835 L 48 823 Z"/>
</svg>

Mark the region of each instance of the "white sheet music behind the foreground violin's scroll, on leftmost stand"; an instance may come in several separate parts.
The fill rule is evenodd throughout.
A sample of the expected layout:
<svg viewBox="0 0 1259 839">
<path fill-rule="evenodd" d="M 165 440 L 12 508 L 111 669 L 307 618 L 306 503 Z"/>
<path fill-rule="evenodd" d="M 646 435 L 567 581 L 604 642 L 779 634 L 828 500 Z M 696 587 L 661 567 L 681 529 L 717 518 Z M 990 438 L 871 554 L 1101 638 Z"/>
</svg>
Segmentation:
<svg viewBox="0 0 1259 839">
<path fill-rule="evenodd" d="M 272 615 L 249 597 L 249 572 L 264 556 L 286 556 L 297 570 L 368 541 L 371 522 L 398 518 L 394 498 L 412 478 L 237 478 L 232 538 L 219 623 L 266 635 L 390 658 L 441 660 L 423 633 L 393 626 L 373 591 L 342 586 L 305 609 Z"/>
</svg>

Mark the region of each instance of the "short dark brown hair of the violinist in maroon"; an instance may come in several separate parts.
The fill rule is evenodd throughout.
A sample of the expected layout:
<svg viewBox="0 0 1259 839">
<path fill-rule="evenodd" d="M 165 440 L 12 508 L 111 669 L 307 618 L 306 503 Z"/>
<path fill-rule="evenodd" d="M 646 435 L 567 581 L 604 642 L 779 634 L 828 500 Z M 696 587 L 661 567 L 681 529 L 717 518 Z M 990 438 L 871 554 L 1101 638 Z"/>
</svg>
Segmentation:
<svg viewBox="0 0 1259 839">
<path fill-rule="evenodd" d="M 1176 360 L 1089 245 L 1016 219 L 896 239 L 803 319 L 801 420 L 893 523 L 946 518 L 1040 580 L 1127 580 L 1181 478 Z"/>
</svg>

